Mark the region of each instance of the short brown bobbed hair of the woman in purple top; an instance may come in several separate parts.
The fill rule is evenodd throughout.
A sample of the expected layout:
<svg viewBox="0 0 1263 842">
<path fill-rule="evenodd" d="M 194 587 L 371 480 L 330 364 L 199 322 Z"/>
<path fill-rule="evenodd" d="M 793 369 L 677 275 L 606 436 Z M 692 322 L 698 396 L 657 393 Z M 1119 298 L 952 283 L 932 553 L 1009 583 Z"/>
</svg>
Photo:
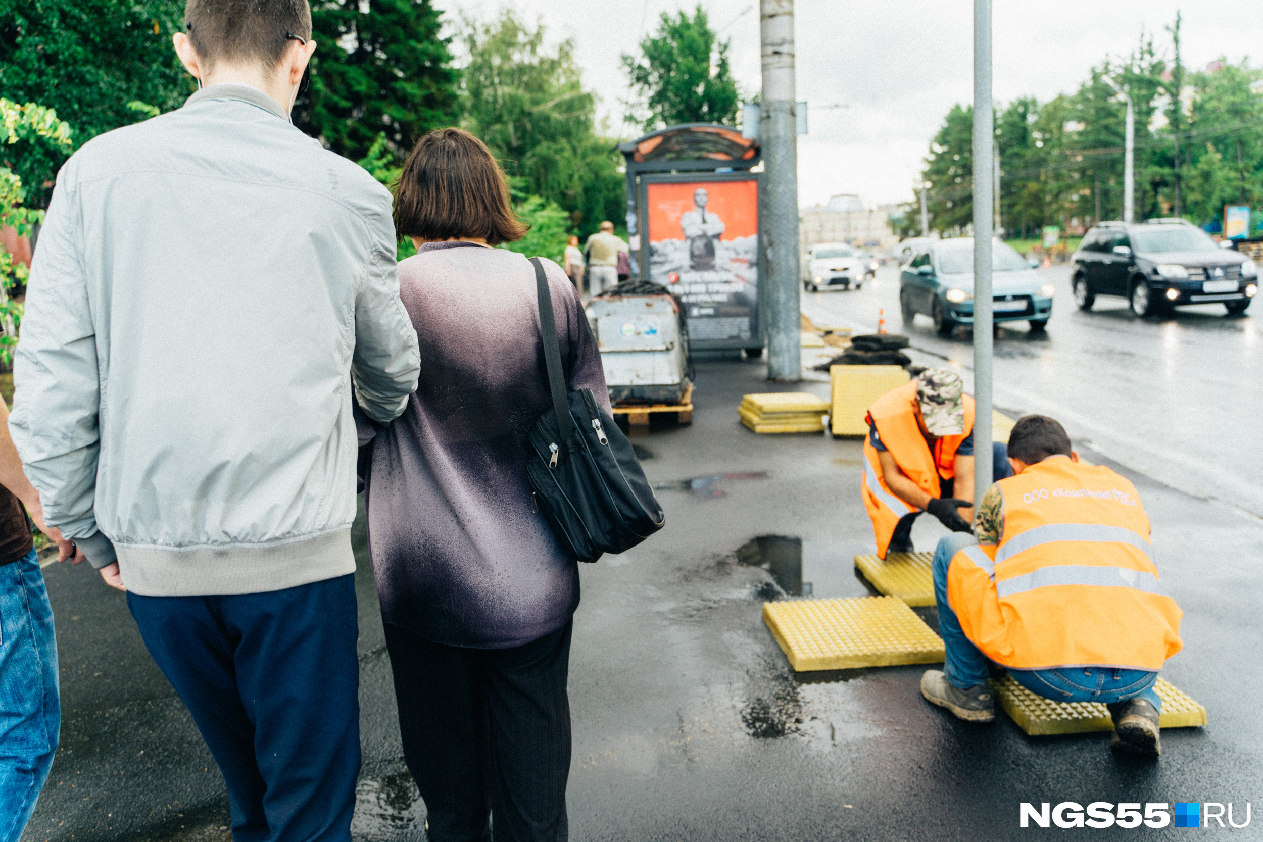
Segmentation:
<svg viewBox="0 0 1263 842">
<path fill-rule="evenodd" d="M 479 237 L 498 246 L 520 240 L 529 227 L 513 215 L 504 170 L 486 144 L 462 129 L 436 129 L 404 162 L 395 230 L 402 237 Z"/>
</svg>

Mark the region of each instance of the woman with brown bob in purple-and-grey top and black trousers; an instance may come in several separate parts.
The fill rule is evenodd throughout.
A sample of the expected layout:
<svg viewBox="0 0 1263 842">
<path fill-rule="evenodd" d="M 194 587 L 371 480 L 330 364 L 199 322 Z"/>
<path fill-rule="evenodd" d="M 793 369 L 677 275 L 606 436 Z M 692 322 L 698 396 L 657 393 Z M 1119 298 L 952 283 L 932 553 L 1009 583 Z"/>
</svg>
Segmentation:
<svg viewBox="0 0 1263 842">
<path fill-rule="evenodd" d="M 404 760 L 432 842 L 567 837 L 576 563 L 533 505 L 528 432 L 552 408 L 525 226 L 488 148 L 432 131 L 408 157 L 395 226 L 417 244 L 399 289 L 422 374 L 371 447 L 369 549 Z M 609 406 L 596 341 L 561 266 L 542 260 L 571 390 Z"/>
</svg>

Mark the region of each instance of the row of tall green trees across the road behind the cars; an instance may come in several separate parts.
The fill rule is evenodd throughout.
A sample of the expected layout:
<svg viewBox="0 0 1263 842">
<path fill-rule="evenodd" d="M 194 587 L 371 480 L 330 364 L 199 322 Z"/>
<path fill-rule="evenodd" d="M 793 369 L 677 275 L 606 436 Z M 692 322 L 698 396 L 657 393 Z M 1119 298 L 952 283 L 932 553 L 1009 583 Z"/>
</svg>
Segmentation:
<svg viewBox="0 0 1263 842">
<path fill-rule="evenodd" d="M 1122 218 L 1127 106 L 1110 78 L 1135 107 L 1137 220 L 1211 223 L 1229 203 L 1263 215 L 1263 72 L 1223 58 L 1188 72 L 1178 29 L 1177 19 L 1168 28 L 1171 56 L 1142 38 L 1129 57 L 1092 68 L 1074 93 L 1043 104 L 1023 97 L 997 110 L 1002 227 L 1009 235 Z M 954 107 L 926 158 L 931 226 L 941 232 L 961 234 L 973 218 L 971 131 L 970 109 Z M 907 207 L 914 212 L 916 198 Z"/>
</svg>

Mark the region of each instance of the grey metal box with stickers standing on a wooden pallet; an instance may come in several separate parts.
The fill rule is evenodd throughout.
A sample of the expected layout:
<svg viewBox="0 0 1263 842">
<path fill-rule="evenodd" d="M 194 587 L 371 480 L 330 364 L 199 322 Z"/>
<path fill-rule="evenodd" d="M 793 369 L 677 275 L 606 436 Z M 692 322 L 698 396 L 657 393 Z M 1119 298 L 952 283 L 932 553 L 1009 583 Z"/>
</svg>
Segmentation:
<svg viewBox="0 0 1263 842">
<path fill-rule="evenodd" d="M 610 403 L 681 401 L 692 371 L 688 332 L 674 297 L 601 295 L 587 304 L 586 313 L 601 351 Z"/>
</svg>

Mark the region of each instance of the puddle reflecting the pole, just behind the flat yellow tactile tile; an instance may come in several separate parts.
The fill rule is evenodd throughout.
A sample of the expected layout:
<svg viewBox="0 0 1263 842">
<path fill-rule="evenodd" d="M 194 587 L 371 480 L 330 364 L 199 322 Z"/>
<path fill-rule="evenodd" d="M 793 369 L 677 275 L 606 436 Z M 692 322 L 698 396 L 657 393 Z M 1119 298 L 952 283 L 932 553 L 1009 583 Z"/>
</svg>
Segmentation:
<svg viewBox="0 0 1263 842">
<path fill-rule="evenodd" d="M 773 601 L 787 596 L 830 600 L 875 593 L 855 569 L 855 555 L 864 552 L 871 550 L 845 542 L 759 535 L 736 550 L 736 562 L 762 567 L 772 576 L 772 582 L 764 582 L 755 591 L 758 600 Z"/>
</svg>

